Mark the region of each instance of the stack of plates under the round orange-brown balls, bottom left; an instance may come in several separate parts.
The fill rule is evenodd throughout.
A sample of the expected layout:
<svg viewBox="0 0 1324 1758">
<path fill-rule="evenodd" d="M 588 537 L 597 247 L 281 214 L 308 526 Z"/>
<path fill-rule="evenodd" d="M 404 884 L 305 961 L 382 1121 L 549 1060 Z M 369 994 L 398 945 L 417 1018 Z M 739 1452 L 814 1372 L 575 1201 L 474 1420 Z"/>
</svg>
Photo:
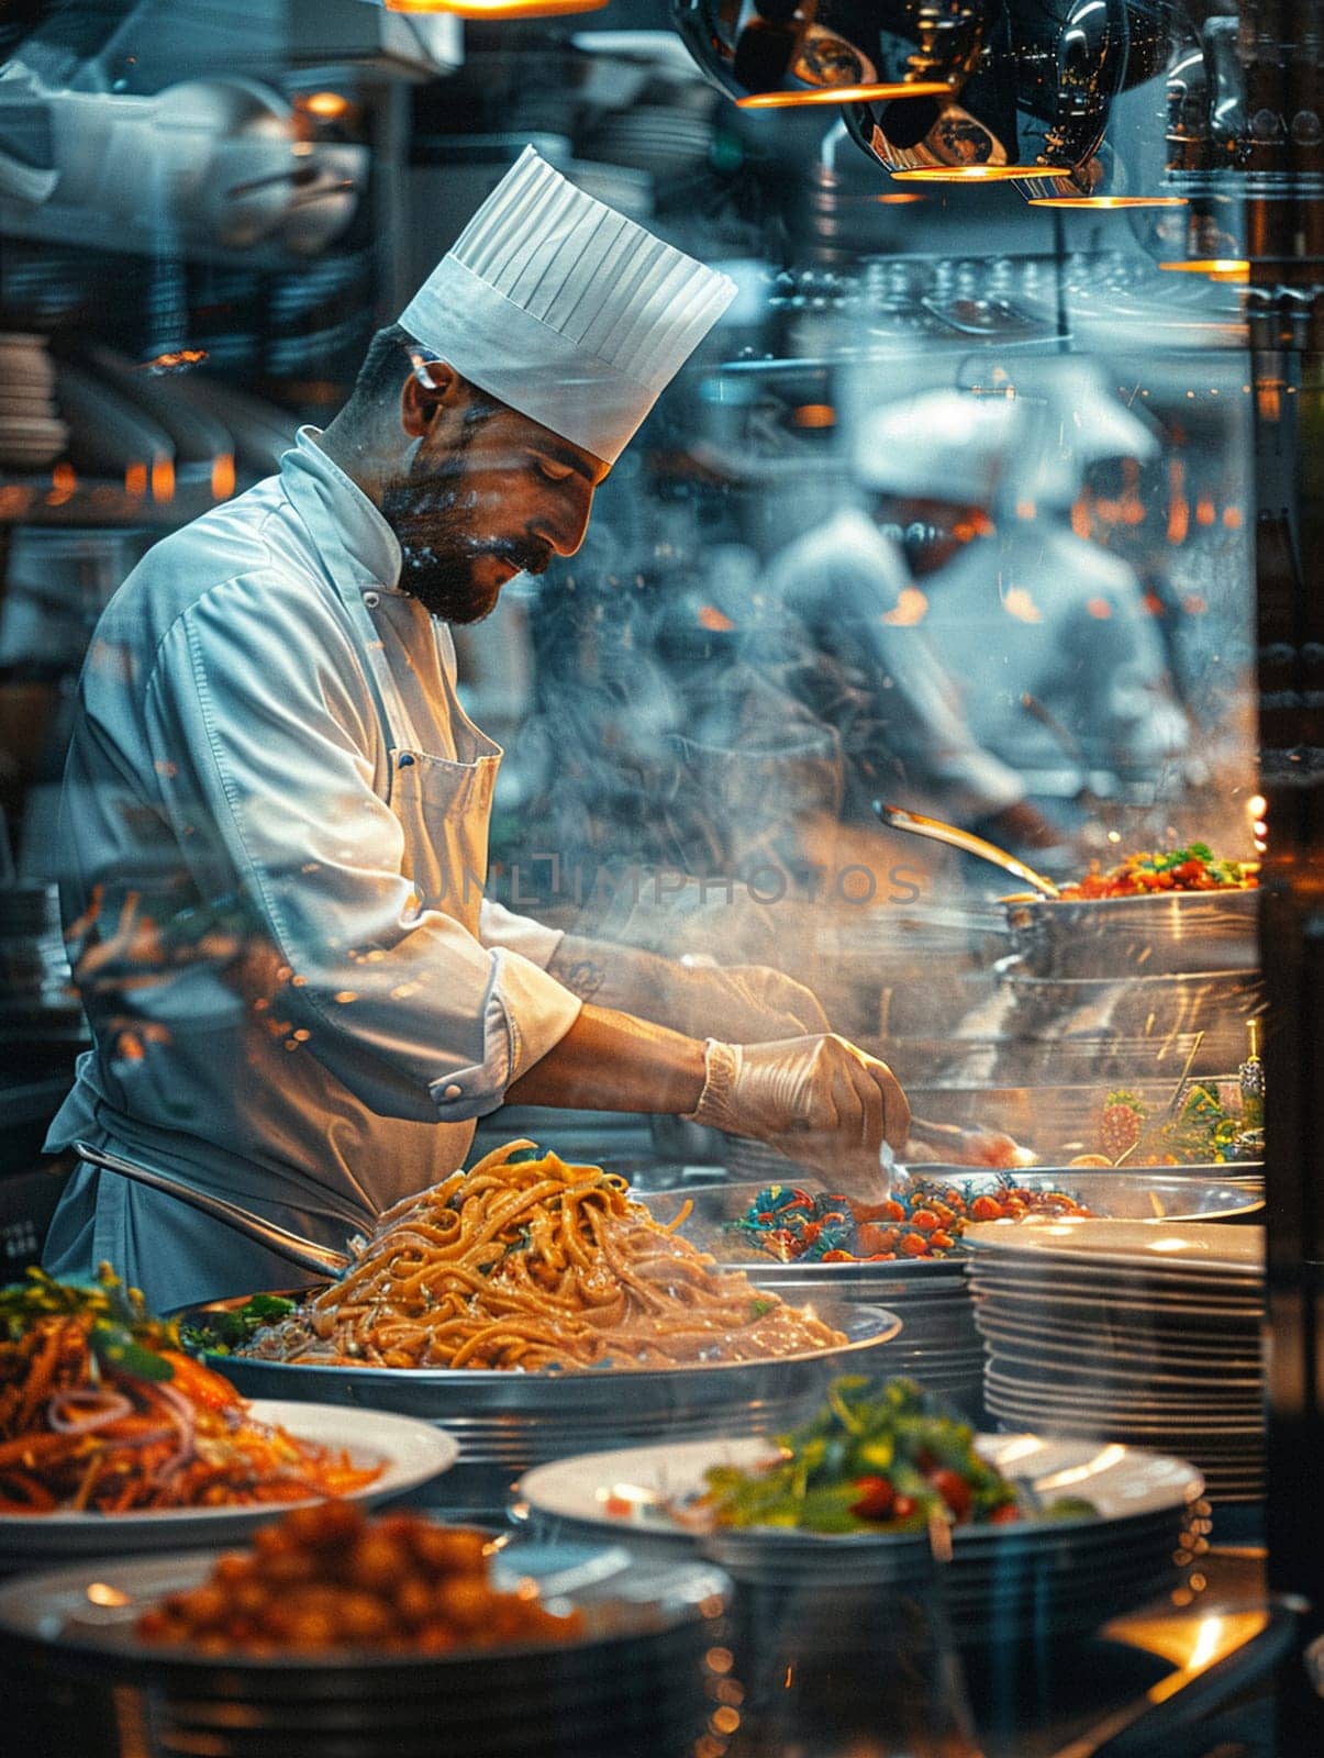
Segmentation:
<svg viewBox="0 0 1324 1758">
<path fill-rule="evenodd" d="M 550 1610 L 582 1612 L 582 1635 L 556 1645 L 258 1658 L 142 1644 L 137 1616 L 202 1582 L 215 1561 L 211 1551 L 102 1558 L 0 1587 L 12 1749 L 687 1758 L 712 1711 L 717 1675 L 707 1656 L 730 1584 L 693 1559 L 642 1570 L 601 1544 L 519 1545 L 496 1558 L 503 1591 L 533 1582 Z"/>
</svg>

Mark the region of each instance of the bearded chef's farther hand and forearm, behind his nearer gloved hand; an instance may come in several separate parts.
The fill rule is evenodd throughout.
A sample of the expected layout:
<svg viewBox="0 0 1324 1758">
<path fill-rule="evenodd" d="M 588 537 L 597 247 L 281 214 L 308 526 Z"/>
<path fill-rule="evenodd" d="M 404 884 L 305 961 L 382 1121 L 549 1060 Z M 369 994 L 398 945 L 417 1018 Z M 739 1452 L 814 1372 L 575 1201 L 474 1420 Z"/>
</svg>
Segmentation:
<svg viewBox="0 0 1324 1758">
<path fill-rule="evenodd" d="M 675 962 L 568 933 L 547 969 L 598 1007 L 652 1020 L 686 1037 L 761 1044 L 828 1030 L 826 1014 L 804 983 L 770 965 Z"/>
</svg>

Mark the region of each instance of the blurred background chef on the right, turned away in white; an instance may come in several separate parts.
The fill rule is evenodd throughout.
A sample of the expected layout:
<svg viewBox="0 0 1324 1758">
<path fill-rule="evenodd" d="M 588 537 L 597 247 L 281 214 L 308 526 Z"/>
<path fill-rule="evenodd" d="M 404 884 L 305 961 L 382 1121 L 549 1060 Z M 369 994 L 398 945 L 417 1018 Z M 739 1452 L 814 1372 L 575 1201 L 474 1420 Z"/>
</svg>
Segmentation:
<svg viewBox="0 0 1324 1758">
<path fill-rule="evenodd" d="M 978 505 L 992 515 L 974 541 L 955 541 L 948 527 L 969 529 L 978 512 L 935 512 L 932 499 L 948 478 L 935 436 L 969 420 L 969 396 L 879 410 L 860 434 L 860 468 L 900 529 L 927 596 L 918 628 L 941 654 L 962 723 L 990 761 L 1016 774 L 1022 810 L 1051 826 L 1048 840 L 1071 844 L 1108 802 L 1152 805 L 1187 745 L 1139 580 L 1069 522 L 1090 464 L 1145 462 L 1159 441 L 1090 360 L 1022 369 L 1016 390 L 986 404 L 1000 420 L 971 429 L 986 457 Z"/>
</svg>

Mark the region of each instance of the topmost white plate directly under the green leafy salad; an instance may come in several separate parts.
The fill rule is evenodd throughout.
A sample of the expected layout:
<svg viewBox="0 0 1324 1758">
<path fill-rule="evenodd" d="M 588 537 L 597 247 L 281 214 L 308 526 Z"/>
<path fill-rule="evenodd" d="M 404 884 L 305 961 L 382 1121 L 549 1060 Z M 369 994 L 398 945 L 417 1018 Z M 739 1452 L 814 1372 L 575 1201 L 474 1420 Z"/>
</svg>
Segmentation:
<svg viewBox="0 0 1324 1758">
<path fill-rule="evenodd" d="M 1131 1447 L 1044 1440 L 1037 1435 L 979 1435 L 976 1445 L 985 1459 L 1008 1477 L 1025 1478 L 1039 1496 L 1085 1496 L 1099 1510 L 1081 1521 L 1018 1521 L 1011 1526 L 967 1526 L 953 1533 L 958 1554 L 1013 1536 L 1032 1533 L 1044 1538 L 1078 1533 L 1104 1521 L 1132 1519 L 1139 1514 L 1176 1510 L 1194 1501 L 1201 1477 L 1185 1459 L 1138 1452 Z M 751 1470 L 777 1457 L 765 1440 L 695 1440 L 679 1447 L 622 1447 L 617 1452 L 580 1454 L 535 1466 L 519 1482 L 519 1500 L 538 1514 L 570 1519 L 601 1531 L 672 1535 L 689 1544 L 700 1535 L 677 1526 L 668 1503 L 684 1503 L 703 1491 L 703 1473 L 712 1464 L 737 1464 Z M 621 1512 L 608 1512 L 619 1503 Z M 913 1533 L 802 1533 L 767 1528 L 760 1536 L 770 1542 L 814 1542 L 830 1551 L 860 1545 L 895 1545 L 913 1542 Z"/>
</svg>

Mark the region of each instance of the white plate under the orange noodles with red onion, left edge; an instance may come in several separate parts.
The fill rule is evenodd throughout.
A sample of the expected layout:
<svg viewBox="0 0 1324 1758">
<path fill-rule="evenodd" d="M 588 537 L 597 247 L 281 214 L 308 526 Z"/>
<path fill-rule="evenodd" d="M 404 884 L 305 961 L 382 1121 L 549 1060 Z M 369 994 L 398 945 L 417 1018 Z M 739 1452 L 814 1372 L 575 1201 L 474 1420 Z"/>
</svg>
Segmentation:
<svg viewBox="0 0 1324 1758">
<path fill-rule="evenodd" d="M 257 1422 L 278 1424 L 299 1440 L 336 1450 L 343 1447 L 357 1466 L 383 1461 L 382 1475 L 346 1498 L 367 1507 L 440 1477 L 459 1456 L 450 1435 L 417 1417 L 271 1398 L 255 1398 L 248 1412 Z M 0 1570 L 58 1558 L 232 1544 L 297 1505 L 266 1501 L 241 1508 L 151 1508 L 137 1514 L 5 1514 L 0 1515 Z"/>
</svg>

